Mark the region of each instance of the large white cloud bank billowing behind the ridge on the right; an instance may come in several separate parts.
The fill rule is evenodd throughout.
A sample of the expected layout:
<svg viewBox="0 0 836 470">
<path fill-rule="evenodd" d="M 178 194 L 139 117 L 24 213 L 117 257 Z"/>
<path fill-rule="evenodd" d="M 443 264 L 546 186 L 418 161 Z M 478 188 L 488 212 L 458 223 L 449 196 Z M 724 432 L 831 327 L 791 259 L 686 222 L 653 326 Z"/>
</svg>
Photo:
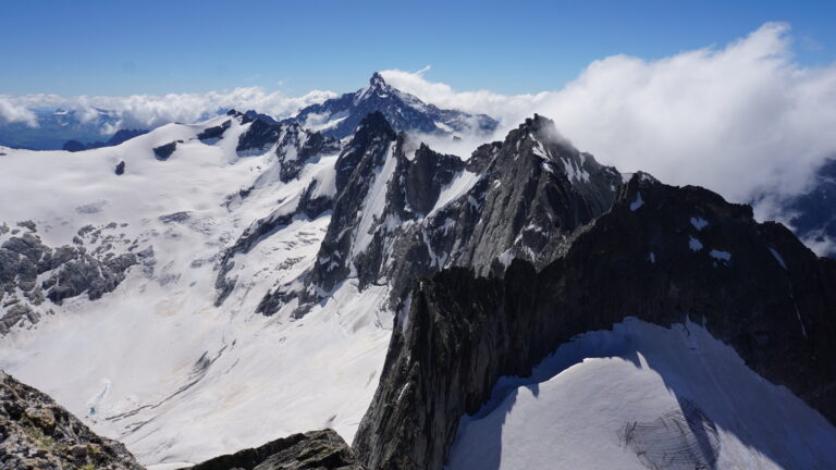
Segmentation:
<svg viewBox="0 0 836 470">
<path fill-rule="evenodd" d="M 496 116 L 503 133 L 538 112 L 604 163 L 748 201 L 804 189 L 836 154 L 836 65 L 800 66 L 790 46 L 788 26 L 770 23 L 723 48 L 608 57 L 536 95 L 456 91 L 426 71 L 382 74 L 437 106 Z"/>
</svg>

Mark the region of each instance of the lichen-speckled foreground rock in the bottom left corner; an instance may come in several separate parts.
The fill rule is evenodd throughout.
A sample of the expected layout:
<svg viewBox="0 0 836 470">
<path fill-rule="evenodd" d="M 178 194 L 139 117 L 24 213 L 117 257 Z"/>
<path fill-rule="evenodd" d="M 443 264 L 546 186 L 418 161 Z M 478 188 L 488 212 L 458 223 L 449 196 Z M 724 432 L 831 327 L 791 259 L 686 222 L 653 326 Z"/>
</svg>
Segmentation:
<svg viewBox="0 0 836 470">
<path fill-rule="evenodd" d="M 124 445 L 94 434 L 49 396 L 2 371 L 0 468 L 143 469 Z"/>
</svg>

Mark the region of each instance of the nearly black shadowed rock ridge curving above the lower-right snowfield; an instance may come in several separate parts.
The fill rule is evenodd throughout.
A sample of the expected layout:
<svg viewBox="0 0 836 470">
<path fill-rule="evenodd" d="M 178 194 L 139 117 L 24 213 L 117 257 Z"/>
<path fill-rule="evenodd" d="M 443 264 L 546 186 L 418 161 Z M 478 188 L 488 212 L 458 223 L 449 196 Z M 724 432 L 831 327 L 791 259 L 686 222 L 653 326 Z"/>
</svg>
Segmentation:
<svg viewBox="0 0 836 470">
<path fill-rule="evenodd" d="M 502 279 L 453 268 L 416 282 L 354 441 L 368 468 L 441 469 L 459 418 L 501 375 L 528 375 L 573 336 L 628 316 L 703 323 L 836 422 L 836 261 L 748 206 L 642 174 L 573 239 L 540 271 L 517 260 Z"/>
</svg>

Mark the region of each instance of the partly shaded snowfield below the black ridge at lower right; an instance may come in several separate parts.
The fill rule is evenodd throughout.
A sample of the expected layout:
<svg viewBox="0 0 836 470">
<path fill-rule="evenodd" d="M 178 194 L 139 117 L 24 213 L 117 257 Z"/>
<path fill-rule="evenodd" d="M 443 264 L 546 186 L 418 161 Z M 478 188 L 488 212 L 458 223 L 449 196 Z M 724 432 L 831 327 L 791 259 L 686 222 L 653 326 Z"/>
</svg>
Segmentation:
<svg viewBox="0 0 836 470">
<path fill-rule="evenodd" d="M 836 467 L 836 429 L 700 325 L 627 319 L 503 378 L 447 468 Z"/>
</svg>

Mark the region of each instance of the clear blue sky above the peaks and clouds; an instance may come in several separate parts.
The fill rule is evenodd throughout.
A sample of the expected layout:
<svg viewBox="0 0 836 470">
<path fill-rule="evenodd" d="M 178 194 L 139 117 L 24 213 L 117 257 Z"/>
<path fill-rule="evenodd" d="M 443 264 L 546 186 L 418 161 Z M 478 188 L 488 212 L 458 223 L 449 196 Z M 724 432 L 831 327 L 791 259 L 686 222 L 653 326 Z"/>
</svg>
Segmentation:
<svg viewBox="0 0 836 470">
<path fill-rule="evenodd" d="M 557 89 L 591 61 L 722 46 L 769 21 L 796 60 L 836 59 L 836 2 L 16 1 L 0 7 L 0 94 L 360 87 L 374 70 L 503 94 Z M 730 5 L 729 5 L 730 4 Z"/>
</svg>

